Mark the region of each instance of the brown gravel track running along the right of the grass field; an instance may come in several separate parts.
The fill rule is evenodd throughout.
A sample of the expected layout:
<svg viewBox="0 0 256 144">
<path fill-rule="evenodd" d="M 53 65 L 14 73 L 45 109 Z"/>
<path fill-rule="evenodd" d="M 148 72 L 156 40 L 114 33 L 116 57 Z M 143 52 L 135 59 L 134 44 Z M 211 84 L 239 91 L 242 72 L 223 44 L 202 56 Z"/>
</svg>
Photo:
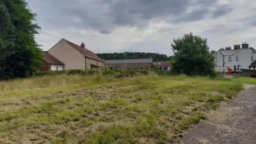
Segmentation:
<svg viewBox="0 0 256 144">
<path fill-rule="evenodd" d="M 208 114 L 208 120 L 188 130 L 180 143 L 256 143 L 256 86 Z"/>
</svg>

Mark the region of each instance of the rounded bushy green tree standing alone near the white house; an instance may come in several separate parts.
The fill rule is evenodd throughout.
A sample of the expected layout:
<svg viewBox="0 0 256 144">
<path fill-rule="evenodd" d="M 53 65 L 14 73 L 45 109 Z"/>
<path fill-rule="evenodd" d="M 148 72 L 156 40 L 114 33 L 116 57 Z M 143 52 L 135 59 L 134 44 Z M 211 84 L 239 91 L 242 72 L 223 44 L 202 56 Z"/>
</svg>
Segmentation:
<svg viewBox="0 0 256 144">
<path fill-rule="evenodd" d="M 214 74 L 214 57 L 209 51 L 207 39 L 185 34 L 173 39 L 172 71 L 186 75 Z"/>
</svg>

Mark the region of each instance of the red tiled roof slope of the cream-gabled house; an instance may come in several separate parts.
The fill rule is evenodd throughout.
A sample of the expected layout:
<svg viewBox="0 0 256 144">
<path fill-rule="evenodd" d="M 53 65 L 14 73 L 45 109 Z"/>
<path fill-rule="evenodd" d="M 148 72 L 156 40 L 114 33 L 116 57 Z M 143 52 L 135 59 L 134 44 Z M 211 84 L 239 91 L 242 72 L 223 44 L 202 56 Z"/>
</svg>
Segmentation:
<svg viewBox="0 0 256 144">
<path fill-rule="evenodd" d="M 83 49 L 81 46 L 79 46 L 77 44 L 74 44 L 72 42 L 69 42 L 66 39 L 63 39 L 63 40 L 66 41 L 68 44 L 70 44 L 72 47 L 74 47 L 78 52 L 83 54 L 84 57 L 104 62 L 101 58 L 98 57 L 98 55 L 96 55 L 92 51 L 87 50 L 87 49 Z"/>
</svg>

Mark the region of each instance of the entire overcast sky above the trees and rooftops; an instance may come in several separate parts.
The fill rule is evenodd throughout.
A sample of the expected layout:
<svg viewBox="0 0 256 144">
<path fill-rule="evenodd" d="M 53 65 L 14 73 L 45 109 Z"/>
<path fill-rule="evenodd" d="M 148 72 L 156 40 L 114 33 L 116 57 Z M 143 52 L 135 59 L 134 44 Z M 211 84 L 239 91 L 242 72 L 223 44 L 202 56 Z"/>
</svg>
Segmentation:
<svg viewBox="0 0 256 144">
<path fill-rule="evenodd" d="M 43 50 L 65 38 L 95 53 L 172 55 L 173 38 L 190 31 L 211 50 L 249 43 L 256 48 L 255 0 L 28 0 Z"/>
</svg>

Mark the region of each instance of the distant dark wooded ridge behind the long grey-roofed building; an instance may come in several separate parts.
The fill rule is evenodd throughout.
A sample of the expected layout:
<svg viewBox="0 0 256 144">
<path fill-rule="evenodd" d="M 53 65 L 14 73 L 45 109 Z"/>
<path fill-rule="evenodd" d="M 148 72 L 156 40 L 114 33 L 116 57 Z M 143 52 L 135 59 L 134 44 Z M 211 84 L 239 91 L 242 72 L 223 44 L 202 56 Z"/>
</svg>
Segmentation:
<svg viewBox="0 0 256 144">
<path fill-rule="evenodd" d="M 124 52 L 124 53 L 97 53 L 98 57 L 105 60 L 121 60 L 121 59 L 149 59 L 153 61 L 169 61 L 171 56 L 166 54 L 149 53 L 149 52 Z"/>
</svg>

